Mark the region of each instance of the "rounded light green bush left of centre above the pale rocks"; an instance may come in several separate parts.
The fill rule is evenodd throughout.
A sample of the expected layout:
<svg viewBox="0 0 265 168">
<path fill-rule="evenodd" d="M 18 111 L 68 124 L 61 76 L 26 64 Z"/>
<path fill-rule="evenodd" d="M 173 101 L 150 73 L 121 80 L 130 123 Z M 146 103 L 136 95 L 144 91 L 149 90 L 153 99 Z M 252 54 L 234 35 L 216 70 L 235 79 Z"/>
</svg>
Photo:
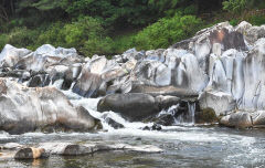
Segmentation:
<svg viewBox="0 0 265 168">
<path fill-rule="evenodd" d="M 84 17 L 72 23 L 53 24 L 39 36 L 38 43 L 76 48 L 82 54 L 91 56 L 112 52 L 113 41 L 97 19 Z"/>
</svg>

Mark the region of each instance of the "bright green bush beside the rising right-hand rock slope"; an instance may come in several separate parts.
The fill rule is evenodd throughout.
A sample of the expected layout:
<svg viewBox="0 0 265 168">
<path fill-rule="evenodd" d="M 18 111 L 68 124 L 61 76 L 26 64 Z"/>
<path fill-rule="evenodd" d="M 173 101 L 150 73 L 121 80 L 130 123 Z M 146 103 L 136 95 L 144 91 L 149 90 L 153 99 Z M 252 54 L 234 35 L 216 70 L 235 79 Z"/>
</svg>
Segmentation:
<svg viewBox="0 0 265 168">
<path fill-rule="evenodd" d="M 193 15 L 174 15 L 161 19 L 140 31 L 134 39 L 138 50 L 168 48 L 174 42 L 193 35 L 202 27 L 202 21 Z"/>
</svg>

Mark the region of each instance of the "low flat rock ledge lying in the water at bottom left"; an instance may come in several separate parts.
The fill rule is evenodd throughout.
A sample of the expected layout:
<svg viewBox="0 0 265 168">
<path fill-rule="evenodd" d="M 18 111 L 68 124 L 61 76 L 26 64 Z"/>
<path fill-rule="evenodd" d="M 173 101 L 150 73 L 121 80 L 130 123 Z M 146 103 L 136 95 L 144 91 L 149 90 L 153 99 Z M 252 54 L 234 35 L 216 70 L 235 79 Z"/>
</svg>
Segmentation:
<svg viewBox="0 0 265 168">
<path fill-rule="evenodd" d="M 17 150 L 19 149 L 19 150 Z M 131 146 L 127 144 L 73 144 L 73 143 L 43 143 L 35 147 L 20 145 L 20 148 L 3 150 L 2 159 L 38 159 L 47 158 L 50 155 L 81 156 L 97 151 L 126 150 L 131 153 L 157 154 L 163 150 L 152 145 Z"/>
</svg>

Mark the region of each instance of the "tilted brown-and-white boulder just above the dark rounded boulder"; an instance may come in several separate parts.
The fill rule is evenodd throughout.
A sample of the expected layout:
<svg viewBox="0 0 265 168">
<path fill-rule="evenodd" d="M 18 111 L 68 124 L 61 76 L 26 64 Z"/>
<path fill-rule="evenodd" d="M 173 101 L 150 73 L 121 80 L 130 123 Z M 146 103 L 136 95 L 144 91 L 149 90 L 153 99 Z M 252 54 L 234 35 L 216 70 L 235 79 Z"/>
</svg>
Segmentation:
<svg viewBox="0 0 265 168">
<path fill-rule="evenodd" d="M 106 86 L 114 80 L 129 74 L 135 64 L 135 60 L 129 60 L 120 66 L 117 62 L 108 61 L 105 56 L 96 56 L 84 65 L 73 92 L 84 97 L 105 95 Z"/>
</svg>

